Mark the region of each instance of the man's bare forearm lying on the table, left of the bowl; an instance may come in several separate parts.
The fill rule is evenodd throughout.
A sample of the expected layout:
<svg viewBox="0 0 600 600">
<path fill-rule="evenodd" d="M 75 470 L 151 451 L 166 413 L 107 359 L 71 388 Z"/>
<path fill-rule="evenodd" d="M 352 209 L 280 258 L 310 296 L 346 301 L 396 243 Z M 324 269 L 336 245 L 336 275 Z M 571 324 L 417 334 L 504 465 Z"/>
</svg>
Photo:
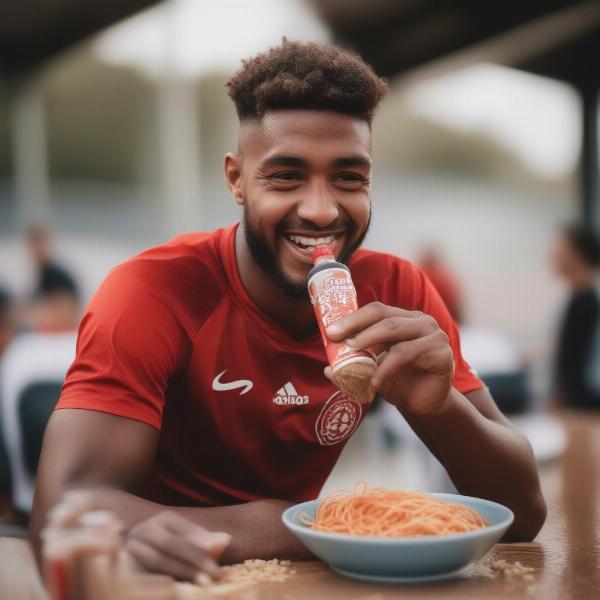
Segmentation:
<svg viewBox="0 0 600 600">
<path fill-rule="evenodd" d="M 290 506 L 282 500 L 256 500 L 211 508 L 170 507 L 121 490 L 100 489 L 94 493 L 94 505 L 96 509 L 114 512 L 126 531 L 166 510 L 177 512 L 209 531 L 225 531 L 232 536 L 232 542 L 222 557 L 223 563 L 247 558 L 310 557 L 306 548 L 281 522 L 281 513 Z"/>
</svg>

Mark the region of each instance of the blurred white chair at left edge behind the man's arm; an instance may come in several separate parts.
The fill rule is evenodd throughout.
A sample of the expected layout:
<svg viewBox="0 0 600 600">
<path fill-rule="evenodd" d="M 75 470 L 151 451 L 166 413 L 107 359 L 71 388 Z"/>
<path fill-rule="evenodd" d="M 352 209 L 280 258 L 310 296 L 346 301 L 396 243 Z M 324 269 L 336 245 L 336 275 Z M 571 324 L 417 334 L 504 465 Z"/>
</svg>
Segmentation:
<svg viewBox="0 0 600 600">
<path fill-rule="evenodd" d="M 0 362 L 0 410 L 9 456 L 13 504 L 30 512 L 35 479 L 25 465 L 19 402 L 33 384 L 61 383 L 75 357 L 76 334 L 27 333 L 18 336 L 6 349 Z"/>
</svg>

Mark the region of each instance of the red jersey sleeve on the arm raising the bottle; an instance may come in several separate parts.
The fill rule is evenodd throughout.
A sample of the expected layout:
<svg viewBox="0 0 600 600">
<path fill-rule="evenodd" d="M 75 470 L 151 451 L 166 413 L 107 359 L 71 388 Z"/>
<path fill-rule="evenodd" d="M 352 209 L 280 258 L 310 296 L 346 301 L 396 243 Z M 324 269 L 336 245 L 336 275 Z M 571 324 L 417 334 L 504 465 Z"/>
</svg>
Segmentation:
<svg viewBox="0 0 600 600">
<path fill-rule="evenodd" d="M 407 298 L 407 308 L 431 315 L 448 335 L 454 354 L 453 387 L 461 394 L 485 387 L 463 358 L 458 327 L 427 276 L 414 265 L 405 262 L 401 267 L 397 285 L 400 286 L 400 295 Z M 410 292 L 407 294 L 409 290 Z"/>
</svg>

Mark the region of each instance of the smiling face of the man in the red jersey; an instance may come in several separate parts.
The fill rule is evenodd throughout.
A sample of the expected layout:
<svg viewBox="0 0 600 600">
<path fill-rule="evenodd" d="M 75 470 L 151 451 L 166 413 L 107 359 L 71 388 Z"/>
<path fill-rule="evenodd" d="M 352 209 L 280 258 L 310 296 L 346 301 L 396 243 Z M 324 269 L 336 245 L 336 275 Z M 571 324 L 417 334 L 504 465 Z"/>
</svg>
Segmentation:
<svg viewBox="0 0 600 600">
<path fill-rule="evenodd" d="M 292 298 L 306 298 L 311 254 L 325 243 L 342 262 L 370 219 L 371 131 L 333 112 L 273 111 L 243 125 L 239 197 L 255 262 Z"/>
</svg>

